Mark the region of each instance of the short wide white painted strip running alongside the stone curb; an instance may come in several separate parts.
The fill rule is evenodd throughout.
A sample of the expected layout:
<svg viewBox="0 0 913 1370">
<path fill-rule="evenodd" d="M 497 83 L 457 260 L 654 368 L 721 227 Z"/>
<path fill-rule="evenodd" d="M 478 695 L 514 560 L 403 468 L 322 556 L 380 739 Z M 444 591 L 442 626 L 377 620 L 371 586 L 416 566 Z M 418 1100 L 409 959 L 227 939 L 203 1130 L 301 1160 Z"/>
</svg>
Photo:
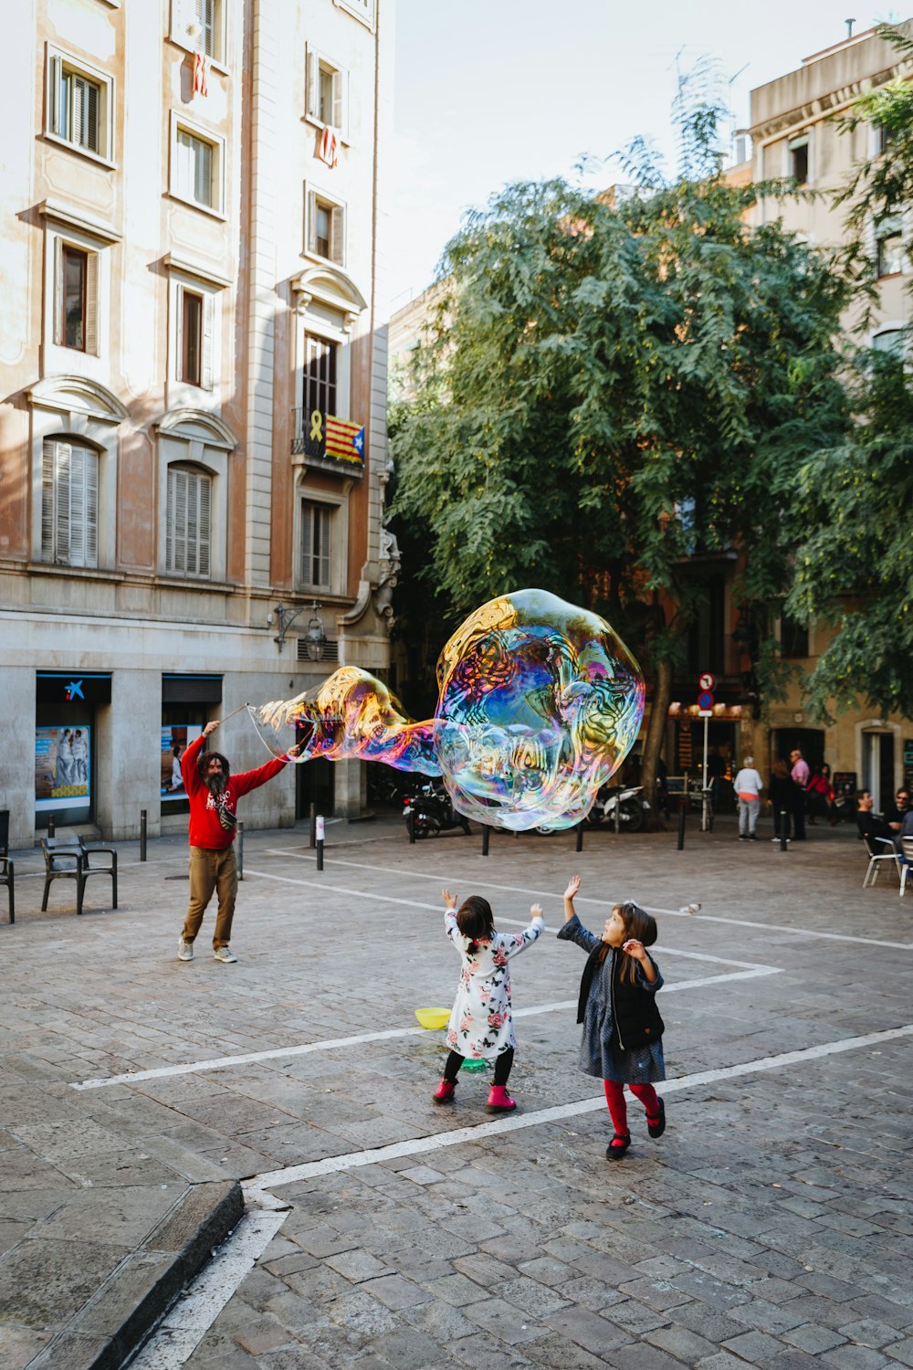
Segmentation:
<svg viewBox="0 0 913 1370">
<path fill-rule="evenodd" d="M 248 1197 L 249 1204 L 263 1201 Z M 152 1337 L 130 1362 L 131 1370 L 179 1370 L 190 1359 L 244 1277 L 267 1249 L 285 1222 L 287 1208 L 275 1200 L 268 1208 L 250 1207 L 223 1241 L 209 1265 L 166 1312 Z"/>
</svg>

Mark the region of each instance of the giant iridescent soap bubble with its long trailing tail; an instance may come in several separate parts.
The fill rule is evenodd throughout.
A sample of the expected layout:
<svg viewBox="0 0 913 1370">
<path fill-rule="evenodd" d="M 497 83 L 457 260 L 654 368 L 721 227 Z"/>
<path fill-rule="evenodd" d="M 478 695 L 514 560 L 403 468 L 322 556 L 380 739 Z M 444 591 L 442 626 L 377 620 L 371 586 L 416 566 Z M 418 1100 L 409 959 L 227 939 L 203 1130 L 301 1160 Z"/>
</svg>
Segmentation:
<svg viewBox="0 0 913 1370">
<path fill-rule="evenodd" d="M 513 832 L 572 827 L 631 749 L 643 677 L 605 619 L 548 590 L 475 610 L 438 660 L 438 707 L 413 723 L 386 685 L 344 666 L 316 693 L 250 707 L 298 760 L 385 762 L 442 775 L 454 808 Z"/>
</svg>

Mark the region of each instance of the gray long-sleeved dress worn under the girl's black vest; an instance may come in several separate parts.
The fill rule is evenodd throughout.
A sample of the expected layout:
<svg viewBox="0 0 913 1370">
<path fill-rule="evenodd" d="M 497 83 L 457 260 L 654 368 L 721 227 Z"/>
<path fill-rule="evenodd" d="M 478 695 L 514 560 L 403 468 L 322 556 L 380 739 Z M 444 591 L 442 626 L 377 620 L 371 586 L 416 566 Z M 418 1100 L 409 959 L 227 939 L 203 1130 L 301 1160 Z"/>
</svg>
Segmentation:
<svg viewBox="0 0 913 1370">
<path fill-rule="evenodd" d="M 600 945 L 600 938 L 583 926 L 576 914 L 564 927 L 558 929 L 558 937 L 563 941 L 576 943 L 587 956 L 594 947 Z M 656 1085 L 665 1080 L 661 1040 L 636 1047 L 632 1051 L 621 1051 L 609 1040 L 612 1037 L 612 973 L 615 958 L 623 955 L 620 948 L 610 948 L 593 977 L 586 1001 L 578 1064 L 584 1074 L 595 1075 L 598 1080 L 615 1080 L 621 1085 Z M 653 960 L 652 956 L 650 960 Z M 654 960 L 653 964 L 656 966 Z M 656 981 L 652 985 L 645 980 L 639 966 L 635 978 L 638 988 L 647 995 L 663 988 L 663 974 L 658 966 L 656 966 Z"/>
</svg>

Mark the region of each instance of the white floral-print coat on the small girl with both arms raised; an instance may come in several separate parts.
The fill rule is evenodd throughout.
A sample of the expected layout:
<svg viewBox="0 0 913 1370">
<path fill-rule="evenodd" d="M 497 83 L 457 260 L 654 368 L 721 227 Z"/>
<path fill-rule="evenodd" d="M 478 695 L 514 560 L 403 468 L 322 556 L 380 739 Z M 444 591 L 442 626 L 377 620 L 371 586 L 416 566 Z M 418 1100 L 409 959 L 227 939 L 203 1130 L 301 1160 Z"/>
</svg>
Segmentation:
<svg viewBox="0 0 913 1370">
<path fill-rule="evenodd" d="M 475 943 L 474 952 L 468 949 L 470 938 L 457 927 L 454 908 L 445 908 L 443 930 L 461 960 L 448 1047 L 472 1060 L 500 1056 L 516 1047 L 508 962 L 542 936 L 545 919 L 534 918 L 522 933 L 494 933 L 490 941 Z"/>
</svg>

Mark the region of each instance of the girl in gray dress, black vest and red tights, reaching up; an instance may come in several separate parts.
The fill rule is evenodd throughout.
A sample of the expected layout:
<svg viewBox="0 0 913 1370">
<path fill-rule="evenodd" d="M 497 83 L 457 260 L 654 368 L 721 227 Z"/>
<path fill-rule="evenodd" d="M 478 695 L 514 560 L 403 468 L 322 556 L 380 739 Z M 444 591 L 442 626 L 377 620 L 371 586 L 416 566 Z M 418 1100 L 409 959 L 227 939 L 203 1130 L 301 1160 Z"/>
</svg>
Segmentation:
<svg viewBox="0 0 913 1370">
<path fill-rule="evenodd" d="M 626 1085 L 646 1108 L 649 1134 L 661 1137 L 665 1132 L 665 1106 L 653 1088 L 665 1080 L 663 1019 L 656 1007 L 663 975 L 646 951 L 656 941 L 656 919 L 627 900 L 615 904 L 602 936 L 597 937 L 574 910 L 579 888 L 580 877 L 572 875 L 564 891 L 564 927 L 558 937 L 587 952 L 578 1003 L 578 1022 L 583 1023 L 579 1066 L 605 1086 L 615 1128 L 605 1154 L 609 1160 L 620 1160 L 631 1145 Z"/>
</svg>

